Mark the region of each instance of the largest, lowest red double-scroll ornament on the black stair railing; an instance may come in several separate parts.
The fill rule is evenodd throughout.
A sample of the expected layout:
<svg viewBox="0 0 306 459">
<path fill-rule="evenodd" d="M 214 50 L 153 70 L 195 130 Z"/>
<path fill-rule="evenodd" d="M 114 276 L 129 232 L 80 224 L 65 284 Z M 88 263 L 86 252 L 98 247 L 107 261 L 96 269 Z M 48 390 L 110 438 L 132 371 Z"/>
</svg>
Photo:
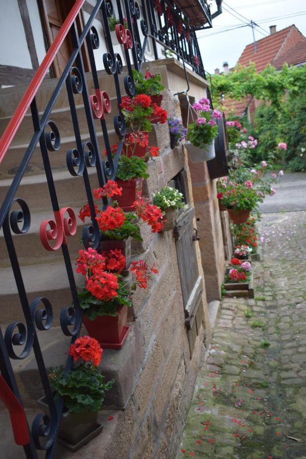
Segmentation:
<svg viewBox="0 0 306 459">
<path fill-rule="evenodd" d="M 66 212 L 69 217 L 65 217 Z M 63 207 L 59 211 L 54 211 L 54 216 L 55 221 L 43 220 L 39 227 L 41 243 L 48 251 L 59 249 L 62 244 L 67 244 L 66 236 L 73 236 L 77 233 L 77 217 L 71 207 Z M 55 241 L 55 244 L 51 245 L 49 241 Z"/>
</svg>

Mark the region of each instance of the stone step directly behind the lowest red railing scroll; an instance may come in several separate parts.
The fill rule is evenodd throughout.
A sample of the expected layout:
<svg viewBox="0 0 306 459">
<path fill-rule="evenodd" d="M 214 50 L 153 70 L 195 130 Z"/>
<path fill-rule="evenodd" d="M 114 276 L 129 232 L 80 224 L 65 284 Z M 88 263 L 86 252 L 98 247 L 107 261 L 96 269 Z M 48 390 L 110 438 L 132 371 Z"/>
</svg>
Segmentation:
<svg viewBox="0 0 306 459">
<path fill-rule="evenodd" d="M 78 252 L 83 248 L 81 241 L 84 223 L 78 217 L 80 208 L 74 208 L 73 211 L 77 216 L 77 233 L 74 236 L 67 238 L 67 245 L 71 260 L 75 260 Z M 39 227 L 44 220 L 54 220 L 52 211 L 41 212 L 31 215 L 31 226 L 26 234 L 17 235 L 12 233 L 14 246 L 18 257 L 18 262 L 21 266 L 35 265 L 42 263 L 56 263 L 63 260 L 62 250 L 47 251 L 39 237 Z M 90 220 L 87 219 L 88 224 Z M 3 268 L 11 266 L 6 243 L 3 236 L 3 231 L 0 232 L 0 261 Z"/>
</svg>

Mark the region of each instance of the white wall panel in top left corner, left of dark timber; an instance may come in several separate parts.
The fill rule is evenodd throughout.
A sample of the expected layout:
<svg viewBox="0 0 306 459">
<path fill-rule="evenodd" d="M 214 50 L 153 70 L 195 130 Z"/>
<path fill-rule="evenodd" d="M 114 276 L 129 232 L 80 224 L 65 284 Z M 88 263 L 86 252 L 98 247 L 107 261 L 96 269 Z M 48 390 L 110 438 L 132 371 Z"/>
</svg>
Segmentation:
<svg viewBox="0 0 306 459">
<path fill-rule="evenodd" d="M 17 0 L 0 0 L 0 65 L 32 68 Z"/>
</svg>

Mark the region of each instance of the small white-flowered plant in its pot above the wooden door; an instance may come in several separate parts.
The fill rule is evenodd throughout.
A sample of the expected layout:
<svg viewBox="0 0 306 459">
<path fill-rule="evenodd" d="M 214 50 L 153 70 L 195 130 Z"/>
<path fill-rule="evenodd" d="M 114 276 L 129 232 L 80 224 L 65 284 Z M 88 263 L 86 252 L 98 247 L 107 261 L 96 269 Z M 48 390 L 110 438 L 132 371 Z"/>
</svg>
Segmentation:
<svg viewBox="0 0 306 459">
<path fill-rule="evenodd" d="M 164 211 L 165 223 L 162 231 L 174 228 L 177 210 L 184 208 L 184 196 L 176 188 L 164 187 L 153 195 L 153 203 Z"/>
</svg>

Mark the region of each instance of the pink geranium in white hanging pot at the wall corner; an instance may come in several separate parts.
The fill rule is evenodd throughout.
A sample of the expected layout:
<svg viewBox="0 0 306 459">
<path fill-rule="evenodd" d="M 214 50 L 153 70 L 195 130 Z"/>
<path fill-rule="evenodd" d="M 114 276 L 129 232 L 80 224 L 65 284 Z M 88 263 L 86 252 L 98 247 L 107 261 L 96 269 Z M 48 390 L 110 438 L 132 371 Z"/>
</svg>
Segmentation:
<svg viewBox="0 0 306 459">
<path fill-rule="evenodd" d="M 188 125 L 188 141 L 185 146 L 193 163 L 209 161 L 215 157 L 215 137 L 218 135 L 218 125 L 215 119 L 222 117 L 218 110 L 211 110 L 210 101 L 203 97 L 193 104 L 196 119 Z"/>
</svg>

